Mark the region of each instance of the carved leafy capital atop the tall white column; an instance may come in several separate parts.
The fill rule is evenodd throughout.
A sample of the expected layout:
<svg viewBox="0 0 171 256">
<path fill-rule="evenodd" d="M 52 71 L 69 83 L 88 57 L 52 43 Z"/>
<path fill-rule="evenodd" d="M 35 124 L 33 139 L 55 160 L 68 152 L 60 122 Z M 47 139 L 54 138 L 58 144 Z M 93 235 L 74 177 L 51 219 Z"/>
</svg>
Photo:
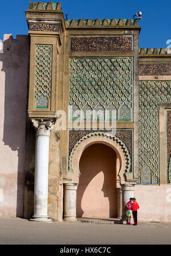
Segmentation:
<svg viewBox="0 0 171 256">
<path fill-rule="evenodd" d="M 55 120 L 49 119 L 31 119 L 32 126 L 36 130 L 36 136 L 50 136 L 50 131 L 53 129 Z"/>
</svg>

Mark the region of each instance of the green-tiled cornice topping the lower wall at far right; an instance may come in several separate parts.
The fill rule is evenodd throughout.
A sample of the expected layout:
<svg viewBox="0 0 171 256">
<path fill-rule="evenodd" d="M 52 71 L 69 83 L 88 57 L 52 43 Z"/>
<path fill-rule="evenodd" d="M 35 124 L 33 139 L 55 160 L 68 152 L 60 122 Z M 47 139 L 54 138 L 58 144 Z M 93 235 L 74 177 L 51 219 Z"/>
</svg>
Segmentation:
<svg viewBox="0 0 171 256">
<path fill-rule="evenodd" d="M 139 49 L 140 55 L 145 55 L 147 57 L 150 55 L 152 57 L 153 55 L 165 55 L 165 56 L 171 56 L 171 49 L 165 49 L 165 48 L 140 48 Z"/>
</svg>

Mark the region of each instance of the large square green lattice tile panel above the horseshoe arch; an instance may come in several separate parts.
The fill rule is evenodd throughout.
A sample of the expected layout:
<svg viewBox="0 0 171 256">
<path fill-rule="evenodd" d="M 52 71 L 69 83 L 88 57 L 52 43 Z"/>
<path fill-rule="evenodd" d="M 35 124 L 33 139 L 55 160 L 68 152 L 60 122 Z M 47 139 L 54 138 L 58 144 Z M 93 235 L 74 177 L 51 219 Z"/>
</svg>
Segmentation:
<svg viewBox="0 0 171 256">
<path fill-rule="evenodd" d="M 132 58 L 71 58 L 69 101 L 83 110 L 111 110 L 117 120 L 126 106 L 132 119 Z M 126 112 L 125 112 L 126 113 Z M 85 118 L 85 115 L 82 115 Z M 112 114 L 108 115 L 112 117 Z M 89 115 L 91 118 L 91 115 Z M 102 115 L 101 115 L 102 117 Z M 72 117 L 70 117 L 72 119 Z M 116 119 L 116 117 L 115 117 Z"/>
</svg>

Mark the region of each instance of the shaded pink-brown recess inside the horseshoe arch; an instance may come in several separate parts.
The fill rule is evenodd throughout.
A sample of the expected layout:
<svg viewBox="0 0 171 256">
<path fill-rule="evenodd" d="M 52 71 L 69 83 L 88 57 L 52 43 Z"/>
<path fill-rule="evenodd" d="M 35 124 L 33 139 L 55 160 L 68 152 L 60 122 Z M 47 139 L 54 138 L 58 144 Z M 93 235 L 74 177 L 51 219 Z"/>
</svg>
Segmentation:
<svg viewBox="0 0 171 256">
<path fill-rule="evenodd" d="M 117 217 L 116 165 L 117 154 L 108 145 L 94 143 L 83 151 L 79 162 L 77 217 Z"/>
</svg>

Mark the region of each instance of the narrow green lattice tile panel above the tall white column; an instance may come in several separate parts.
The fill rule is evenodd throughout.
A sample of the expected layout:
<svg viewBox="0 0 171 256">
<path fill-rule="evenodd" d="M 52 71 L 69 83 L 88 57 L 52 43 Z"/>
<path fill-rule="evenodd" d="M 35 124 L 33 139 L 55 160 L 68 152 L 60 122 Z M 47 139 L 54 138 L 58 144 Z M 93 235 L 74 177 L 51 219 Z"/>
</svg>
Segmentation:
<svg viewBox="0 0 171 256">
<path fill-rule="evenodd" d="M 52 45 L 35 46 L 35 98 L 36 107 L 40 103 L 40 97 L 51 98 L 51 74 L 52 74 Z M 48 108 L 47 101 L 42 107 Z"/>
</svg>

